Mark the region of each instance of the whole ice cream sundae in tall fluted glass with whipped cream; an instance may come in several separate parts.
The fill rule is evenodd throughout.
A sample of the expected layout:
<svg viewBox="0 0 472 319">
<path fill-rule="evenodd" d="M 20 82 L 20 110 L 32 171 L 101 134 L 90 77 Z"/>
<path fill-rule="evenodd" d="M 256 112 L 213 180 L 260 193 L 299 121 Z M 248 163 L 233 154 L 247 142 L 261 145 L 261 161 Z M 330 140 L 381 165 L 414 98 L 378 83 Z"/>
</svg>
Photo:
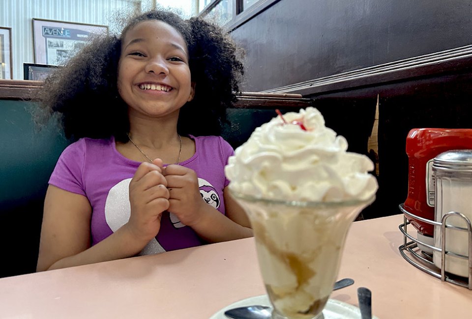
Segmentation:
<svg viewBox="0 0 472 319">
<path fill-rule="evenodd" d="M 372 161 L 346 150 L 308 107 L 257 128 L 226 166 L 251 221 L 272 318 L 323 318 L 349 227 L 378 187 Z"/>
</svg>

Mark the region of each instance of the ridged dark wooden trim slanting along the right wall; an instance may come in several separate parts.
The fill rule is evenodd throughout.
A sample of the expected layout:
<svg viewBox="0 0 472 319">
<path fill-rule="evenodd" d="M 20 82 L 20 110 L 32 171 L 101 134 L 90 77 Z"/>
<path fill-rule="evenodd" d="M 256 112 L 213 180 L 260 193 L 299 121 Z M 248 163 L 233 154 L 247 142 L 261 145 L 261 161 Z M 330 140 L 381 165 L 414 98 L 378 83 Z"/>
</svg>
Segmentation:
<svg viewBox="0 0 472 319">
<path fill-rule="evenodd" d="M 472 45 L 380 64 L 262 91 L 303 96 L 354 89 L 472 68 Z"/>
</svg>

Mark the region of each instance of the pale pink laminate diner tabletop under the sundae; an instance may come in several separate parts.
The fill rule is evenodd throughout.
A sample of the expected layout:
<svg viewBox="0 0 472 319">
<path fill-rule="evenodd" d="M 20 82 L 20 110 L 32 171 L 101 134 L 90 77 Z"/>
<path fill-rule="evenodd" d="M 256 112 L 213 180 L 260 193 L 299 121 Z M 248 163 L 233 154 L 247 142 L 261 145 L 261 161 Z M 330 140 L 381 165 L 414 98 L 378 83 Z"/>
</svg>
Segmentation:
<svg viewBox="0 0 472 319">
<path fill-rule="evenodd" d="M 354 222 L 339 278 L 355 283 L 331 298 L 357 305 L 356 289 L 364 286 L 380 319 L 471 318 L 472 291 L 441 282 L 401 257 L 402 222 L 402 215 Z M 240 239 L 2 278 L 0 318 L 208 319 L 264 292 L 254 239 Z"/>
</svg>

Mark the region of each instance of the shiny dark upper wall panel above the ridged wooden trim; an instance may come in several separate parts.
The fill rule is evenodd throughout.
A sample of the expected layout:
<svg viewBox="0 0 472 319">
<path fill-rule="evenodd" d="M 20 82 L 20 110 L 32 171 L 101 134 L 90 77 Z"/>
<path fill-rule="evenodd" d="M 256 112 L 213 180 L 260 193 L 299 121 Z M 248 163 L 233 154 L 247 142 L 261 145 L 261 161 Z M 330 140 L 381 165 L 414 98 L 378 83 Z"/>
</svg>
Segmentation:
<svg viewBox="0 0 472 319">
<path fill-rule="evenodd" d="M 281 0 L 232 32 L 247 55 L 243 89 L 264 91 L 467 46 L 471 14 L 469 0 Z"/>
</svg>

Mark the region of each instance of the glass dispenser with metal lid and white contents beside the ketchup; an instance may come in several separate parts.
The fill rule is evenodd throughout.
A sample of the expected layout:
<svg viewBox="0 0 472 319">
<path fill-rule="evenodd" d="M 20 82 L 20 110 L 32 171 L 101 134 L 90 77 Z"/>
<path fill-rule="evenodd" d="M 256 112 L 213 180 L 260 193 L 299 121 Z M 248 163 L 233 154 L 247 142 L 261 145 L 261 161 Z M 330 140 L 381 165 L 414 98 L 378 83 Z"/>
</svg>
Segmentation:
<svg viewBox="0 0 472 319">
<path fill-rule="evenodd" d="M 462 213 L 472 221 L 472 150 L 452 150 L 439 154 L 433 160 L 435 176 L 435 220 L 442 222 L 442 216 L 449 212 Z M 467 221 L 459 215 L 446 219 L 447 225 L 467 228 Z M 469 255 L 469 233 L 445 228 L 445 251 Z M 434 243 L 441 248 L 441 226 L 435 226 Z M 441 252 L 434 251 L 433 262 L 441 268 Z M 469 277 L 469 261 L 453 255 L 445 256 L 445 271 Z"/>
</svg>

